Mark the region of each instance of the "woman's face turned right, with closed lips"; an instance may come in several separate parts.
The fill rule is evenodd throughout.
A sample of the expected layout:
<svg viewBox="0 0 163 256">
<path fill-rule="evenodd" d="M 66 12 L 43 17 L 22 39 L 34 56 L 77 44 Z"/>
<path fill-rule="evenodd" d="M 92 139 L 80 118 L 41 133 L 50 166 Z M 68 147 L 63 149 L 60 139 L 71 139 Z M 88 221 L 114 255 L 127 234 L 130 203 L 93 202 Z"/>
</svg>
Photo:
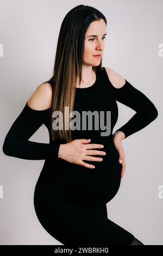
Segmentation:
<svg viewBox="0 0 163 256">
<path fill-rule="evenodd" d="M 105 34 L 106 24 L 103 19 L 91 22 L 85 33 L 84 64 L 100 64 L 102 56 L 97 58 L 93 55 L 103 54 Z"/>
</svg>

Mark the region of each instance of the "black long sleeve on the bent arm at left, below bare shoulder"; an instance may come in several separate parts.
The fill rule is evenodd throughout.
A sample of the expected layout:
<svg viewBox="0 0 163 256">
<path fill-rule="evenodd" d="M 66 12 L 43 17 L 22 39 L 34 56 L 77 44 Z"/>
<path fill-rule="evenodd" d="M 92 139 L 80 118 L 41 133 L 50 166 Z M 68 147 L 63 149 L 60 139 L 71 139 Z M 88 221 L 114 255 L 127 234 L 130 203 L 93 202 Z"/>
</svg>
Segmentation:
<svg viewBox="0 0 163 256">
<path fill-rule="evenodd" d="M 48 114 L 49 109 L 35 110 L 26 103 L 4 139 L 3 153 L 27 160 L 57 159 L 60 143 L 28 141 L 43 124 Z"/>
</svg>

